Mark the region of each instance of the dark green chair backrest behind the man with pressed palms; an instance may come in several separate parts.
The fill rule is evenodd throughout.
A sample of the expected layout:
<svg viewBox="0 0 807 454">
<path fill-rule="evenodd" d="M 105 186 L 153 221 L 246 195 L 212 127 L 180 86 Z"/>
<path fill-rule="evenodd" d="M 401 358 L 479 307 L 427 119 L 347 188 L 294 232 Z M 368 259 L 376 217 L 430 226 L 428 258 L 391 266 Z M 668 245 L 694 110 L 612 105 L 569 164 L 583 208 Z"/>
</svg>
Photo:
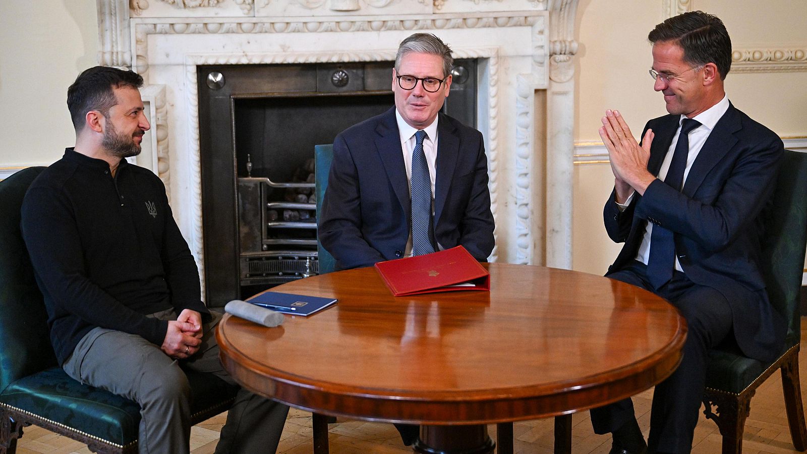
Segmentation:
<svg viewBox="0 0 807 454">
<path fill-rule="evenodd" d="M 788 319 L 787 347 L 801 338 L 801 275 L 807 242 L 807 153 L 785 150 L 762 244 L 771 305 Z"/>
</svg>

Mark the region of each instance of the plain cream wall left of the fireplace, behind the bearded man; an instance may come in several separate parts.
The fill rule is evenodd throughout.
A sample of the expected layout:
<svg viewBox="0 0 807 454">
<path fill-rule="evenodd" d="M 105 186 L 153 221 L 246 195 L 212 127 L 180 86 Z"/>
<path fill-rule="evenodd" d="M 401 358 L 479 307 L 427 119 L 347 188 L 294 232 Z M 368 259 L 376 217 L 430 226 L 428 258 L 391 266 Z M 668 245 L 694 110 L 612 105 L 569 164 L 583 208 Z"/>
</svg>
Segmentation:
<svg viewBox="0 0 807 454">
<path fill-rule="evenodd" d="M 75 141 L 67 87 L 95 65 L 95 0 L 4 0 L 0 43 L 0 167 L 54 162 Z"/>
</svg>

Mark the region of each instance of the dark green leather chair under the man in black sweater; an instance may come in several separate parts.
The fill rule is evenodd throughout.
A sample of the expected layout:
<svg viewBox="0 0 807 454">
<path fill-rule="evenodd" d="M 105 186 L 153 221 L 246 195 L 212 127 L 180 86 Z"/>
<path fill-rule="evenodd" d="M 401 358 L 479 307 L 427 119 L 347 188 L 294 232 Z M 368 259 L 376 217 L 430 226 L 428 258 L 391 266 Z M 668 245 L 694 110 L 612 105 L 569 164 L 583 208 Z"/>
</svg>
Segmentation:
<svg viewBox="0 0 807 454">
<path fill-rule="evenodd" d="M 48 315 L 19 229 L 23 195 L 44 167 L 0 182 L 0 454 L 16 451 L 23 427 L 35 424 L 87 443 L 95 452 L 137 452 L 140 407 L 82 385 L 56 364 Z M 192 421 L 232 405 L 236 389 L 210 374 L 189 372 Z"/>
</svg>

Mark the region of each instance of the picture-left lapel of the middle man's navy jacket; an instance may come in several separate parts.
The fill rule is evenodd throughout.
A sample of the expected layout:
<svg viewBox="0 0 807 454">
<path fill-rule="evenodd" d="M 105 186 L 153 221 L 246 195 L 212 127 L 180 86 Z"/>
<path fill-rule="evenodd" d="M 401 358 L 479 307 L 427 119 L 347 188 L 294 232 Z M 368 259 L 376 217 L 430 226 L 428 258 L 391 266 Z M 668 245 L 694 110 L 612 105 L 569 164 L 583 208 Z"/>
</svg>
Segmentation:
<svg viewBox="0 0 807 454">
<path fill-rule="evenodd" d="M 398 201 L 403 208 L 403 212 L 410 212 L 409 187 L 406 178 L 406 166 L 403 164 L 403 149 L 401 148 L 400 133 L 398 123 L 395 120 L 395 107 L 392 107 L 375 128 L 378 136 L 375 137 L 375 147 L 378 156 L 383 162 L 387 178 Z"/>
</svg>

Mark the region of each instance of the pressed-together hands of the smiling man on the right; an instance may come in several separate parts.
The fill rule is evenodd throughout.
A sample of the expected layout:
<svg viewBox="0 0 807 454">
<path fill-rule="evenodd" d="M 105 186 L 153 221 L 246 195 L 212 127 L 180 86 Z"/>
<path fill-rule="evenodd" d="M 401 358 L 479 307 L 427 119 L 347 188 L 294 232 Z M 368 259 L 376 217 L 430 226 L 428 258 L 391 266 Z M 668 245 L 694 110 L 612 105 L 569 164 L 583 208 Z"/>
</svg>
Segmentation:
<svg viewBox="0 0 807 454">
<path fill-rule="evenodd" d="M 605 111 L 602 122 L 600 137 L 608 149 L 611 170 L 616 179 L 614 186 L 617 191 L 617 202 L 622 203 L 632 191 L 644 194 L 645 189 L 655 179 L 653 174 L 647 171 L 650 143 L 653 141 L 654 132 L 648 129 L 640 146 L 619 111 Z"/>
</svg>

